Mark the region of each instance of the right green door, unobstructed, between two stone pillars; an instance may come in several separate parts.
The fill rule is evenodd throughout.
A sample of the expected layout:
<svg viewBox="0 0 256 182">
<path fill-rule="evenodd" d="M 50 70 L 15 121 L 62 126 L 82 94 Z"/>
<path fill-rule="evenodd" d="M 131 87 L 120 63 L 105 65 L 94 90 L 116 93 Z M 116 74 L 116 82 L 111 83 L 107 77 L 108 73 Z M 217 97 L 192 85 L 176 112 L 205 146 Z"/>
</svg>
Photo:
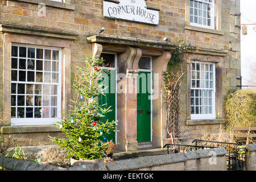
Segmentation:
<svg viewBox="0 0 256 182">
<path fill-rule="evenodd" d="M 137 141 L 151 141 L 151 73 L 139 72 L 137 78 Z"/>
</svg>

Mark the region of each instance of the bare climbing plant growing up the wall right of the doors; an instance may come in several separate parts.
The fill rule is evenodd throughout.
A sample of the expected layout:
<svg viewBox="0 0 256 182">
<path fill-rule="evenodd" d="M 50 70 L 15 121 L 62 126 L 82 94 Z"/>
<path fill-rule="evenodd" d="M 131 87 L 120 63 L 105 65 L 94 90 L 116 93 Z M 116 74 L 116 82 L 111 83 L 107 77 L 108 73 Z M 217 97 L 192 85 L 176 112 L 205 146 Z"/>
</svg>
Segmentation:
<svg viewBox="0 0 256 182">
<path fill-rule="evenodd" d="M 190 53 L 188 57 L 188 52 Z M 187 45 L 183 38 L 177 38 L 177 46 L 172 52 L 171 60 L 166 72 L 165 101 L 167 104 L 167 134 L 170 136 L 171 143 L 175 143 L 175 138 L 180 137 L 180 93 L 183 77 L 188 72 L 183 68 L 182 63 L 188 63 L 187 59 L 192 60 L 193 55 L 198 52 L 197 47 Z M 168 137 L 169 137 L 168 136 Z"/>
</svg>

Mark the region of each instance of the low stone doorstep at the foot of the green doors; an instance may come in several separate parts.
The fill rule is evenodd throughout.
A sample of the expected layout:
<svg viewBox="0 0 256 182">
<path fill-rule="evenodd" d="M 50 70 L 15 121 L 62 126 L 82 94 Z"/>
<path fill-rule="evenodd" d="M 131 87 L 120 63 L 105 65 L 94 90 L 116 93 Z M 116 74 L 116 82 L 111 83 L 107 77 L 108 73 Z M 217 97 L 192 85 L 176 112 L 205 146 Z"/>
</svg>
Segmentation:
<svg viewBox="0 0 256 182">
<path fill-rule="evenodd" d="M 166 148 L 140 148 L 139 150 L 134 151 L 115 151 L 113 154 L 114 160 L 122 160 L 122 159 L 133 159 L 144 156 L 152 156 L 152 155 L 165 155 L 167 154 Z"/>
</svg>

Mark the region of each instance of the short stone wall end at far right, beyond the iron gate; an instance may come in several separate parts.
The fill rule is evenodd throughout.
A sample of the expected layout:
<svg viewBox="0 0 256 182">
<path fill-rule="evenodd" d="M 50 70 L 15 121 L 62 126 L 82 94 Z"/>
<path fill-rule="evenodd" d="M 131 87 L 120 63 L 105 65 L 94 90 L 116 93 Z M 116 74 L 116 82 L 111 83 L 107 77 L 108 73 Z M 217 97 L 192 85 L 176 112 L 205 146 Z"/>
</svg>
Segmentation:
<svg viewBox="0 0 256 182">
<path fill-rule="evenodd" d="M 246 145 L 246 170 L 256 171 L 256 143 Z"/>
</svg>

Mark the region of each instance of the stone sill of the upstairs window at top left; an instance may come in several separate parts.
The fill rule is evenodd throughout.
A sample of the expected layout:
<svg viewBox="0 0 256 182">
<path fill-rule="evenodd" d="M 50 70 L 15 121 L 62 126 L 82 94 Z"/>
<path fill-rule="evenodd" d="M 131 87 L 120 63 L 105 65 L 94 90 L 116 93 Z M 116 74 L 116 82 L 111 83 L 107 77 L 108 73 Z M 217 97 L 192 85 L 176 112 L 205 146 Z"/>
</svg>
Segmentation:
<svg viewBox="0 0 256 182">
<path fill-rule="evenodd" d="M 44 3 L 46 6 L 59 7 L 61 9 L 67 9 L 67 10 L 75 10 L 75 5 L 71 3 L 63 3 L 63 2 L 50 1 L 50 0 L 16 0 L 16 1 L 34 3 L 38 5 L 40 3 Z"/>
</svg>

